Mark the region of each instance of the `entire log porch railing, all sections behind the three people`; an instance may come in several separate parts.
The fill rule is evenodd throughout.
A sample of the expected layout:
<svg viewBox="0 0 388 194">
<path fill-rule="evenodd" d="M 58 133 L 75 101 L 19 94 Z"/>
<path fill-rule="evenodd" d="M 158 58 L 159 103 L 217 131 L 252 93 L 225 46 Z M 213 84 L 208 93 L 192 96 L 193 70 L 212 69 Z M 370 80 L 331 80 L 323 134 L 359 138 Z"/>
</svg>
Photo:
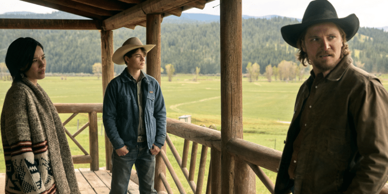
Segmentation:
<svg viewBox="0 0 388 194">
<path fill-rule="evenodd" d="M 70 134 L 67 131 L 70 139 L 80 147 L 83 156 L 73 156 L 74 163 L 90 163 L 90 169 L 93 171 L 98 170 L 98 134 L 97 134 L 97 113 L 102 113 L 102 103 L 75 103 L 75 104 L 60 104 L 54 103 L 58 113 L 73 113 L 68 119 L 65 120 L 66 125 L 72 118 L 78 113 L 89 113 L 89 122 L 86 123 L 81 129 L 74 134 Z M 77 142 L 75 137 L 84 129 L 89 127 L 89 145 L 90 154 Z M 204 178 L 205 178 L 205 166 L 208 156 L 208 147 L 210 147 L 210 169 L 208 173 L 208 182 L 206 185 L 206 194 L 220 194 L 221 193 L 221 132 L 209 129 L 206 127 L 197 126 L 191 123 L 178 121 L 176 119 L 167 118 L 167 133 L 176 135 L 184 139 L 183 153 L 180 157 L 177 149 L 173 145 L 170 137 L 166 136 L 166 143 L 170 148 L 176 162 L 185 176 L 191 190 L 194 194 L 201 194 Z M 190 167 L 187 169 L 187 161 L 189 156 L 190 142 L 192 142 L 192 151 L 190 159 Z M 198 178 L 194 181 L 196 156 L 198 151 L 198 144 L 201 147 L 201 158 L 198 168 Z M 265 175 L 260 167 L 266 168 L 273 172 L 277 172 L 277 167 L 280 162 L 281 152 L 248 142 L 242 139 L 230 140 L 224 149 L 228 153 L 235 155 L 236 157 L 244 160 L 252 168 L 261 182 L 266 186 L 270 193 L 274 194 L 274 184 Z M 181 180 L 173 169 L 171 162 L 168 160 L 166 153 L 161 150 L 160 152 L 163 162 L 174 180 L 176 187 L 180 194 L 186 194 Z M 110 156 L 108 156 L 110 157 Z M 172 189 L 167 182 L 166 175 L 161 173 L 157 178 L 162 180 L 162 183 L 168 194 L 173 194 Z M 132 179 L 132 178 L 131 178 Z M 155 180 L 158 181 L 158 180 Z M 135 181 L 136 182 L 136 181 Z M 159 191 L 158 191 L 159 192 Z M 164 193 L 164 192 L 161 192 Z M 388 194 L 388 184 L 386 184 L 380 194 Z"/>
</svg>

